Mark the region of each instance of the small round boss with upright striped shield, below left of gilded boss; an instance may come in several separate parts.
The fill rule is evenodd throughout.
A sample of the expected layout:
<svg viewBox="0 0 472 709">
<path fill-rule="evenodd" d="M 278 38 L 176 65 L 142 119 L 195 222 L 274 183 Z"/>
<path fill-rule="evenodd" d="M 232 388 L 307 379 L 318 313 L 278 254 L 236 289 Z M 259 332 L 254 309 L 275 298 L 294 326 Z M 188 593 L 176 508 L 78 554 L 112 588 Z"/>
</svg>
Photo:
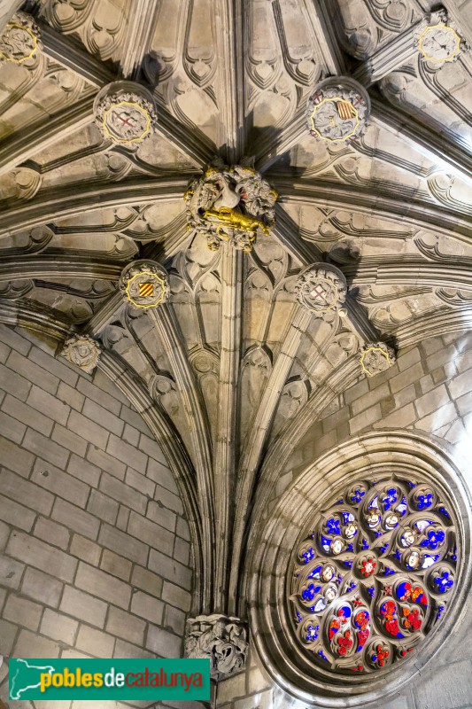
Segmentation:
<svg viewBox="0 0 472 709">
<path fill-rule="evenodd" d="M 166 269 L 155 261 L 133 261 L 123 269 L 120 291 L 135 308 L 156 308 L 170 294 Z"/>
</svg>

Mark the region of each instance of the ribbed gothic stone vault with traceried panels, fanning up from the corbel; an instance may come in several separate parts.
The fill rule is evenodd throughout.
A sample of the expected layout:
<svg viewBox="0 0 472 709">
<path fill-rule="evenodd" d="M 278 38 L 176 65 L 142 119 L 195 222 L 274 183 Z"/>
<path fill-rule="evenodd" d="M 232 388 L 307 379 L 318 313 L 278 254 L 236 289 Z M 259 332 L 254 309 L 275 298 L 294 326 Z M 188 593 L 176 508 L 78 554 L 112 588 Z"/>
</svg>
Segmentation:
<svg viewBox="0 0 472 709">
<path fill-rule="evenodd" d="M 467 38 L 470 19 L 444 4 Z M 415 48 L 430 0 L 22 9 L 42 46 L 0 64 L 0 318 L 59 348 L 70 331 L 101 340 L 99 366 L 181 487 L 193 611 L 244 615 L 251 510 L 313 420 L 363 376 L 360 347 L 401 349 L 472 322 L 471 55 L 434 64 Z M 351 144 L 306 128 L 313 86 L 338 75 L 372 103 Z M 145 85 L 158 107 L 154 135 L 133 151 L 94 123 L 97 92 L 117 79 Z M 216 155 L 254 156 L 279 193 L 275 228 L 251 253 L 209 251 L 186 230 L 183 194 Z M 118 279 L 137 258 L 169 273 L 165 305 L 125 305 Z M 330 322 L 294 297 L 298 272 L 323 261 L 349 288 L 347 316 Z"/>
</svg>

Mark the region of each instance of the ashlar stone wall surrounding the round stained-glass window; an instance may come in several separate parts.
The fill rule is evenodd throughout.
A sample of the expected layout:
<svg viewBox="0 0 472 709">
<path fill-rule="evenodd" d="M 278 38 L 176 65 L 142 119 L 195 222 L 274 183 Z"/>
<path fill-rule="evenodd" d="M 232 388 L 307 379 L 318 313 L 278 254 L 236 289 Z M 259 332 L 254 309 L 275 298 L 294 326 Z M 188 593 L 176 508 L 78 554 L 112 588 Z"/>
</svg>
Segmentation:
<svg viewBox="0 0 472 709">
<path fill-rule="evenodd" d="M 331 448 L 363 432 L 407 429 L 442 440 L 472 491 L 472 334 L 425 339 L 398 362 L 359 381 L 313 422 L 275 487 L 267 514 L 298 475 Z M 405 690 L 368 709 L 472 709 L 472 597 L 462 625 Z M 311 709 L 279 690 L 251 645 L 247 672 L 222 682 L 218 709 Z"/>
</svg>

